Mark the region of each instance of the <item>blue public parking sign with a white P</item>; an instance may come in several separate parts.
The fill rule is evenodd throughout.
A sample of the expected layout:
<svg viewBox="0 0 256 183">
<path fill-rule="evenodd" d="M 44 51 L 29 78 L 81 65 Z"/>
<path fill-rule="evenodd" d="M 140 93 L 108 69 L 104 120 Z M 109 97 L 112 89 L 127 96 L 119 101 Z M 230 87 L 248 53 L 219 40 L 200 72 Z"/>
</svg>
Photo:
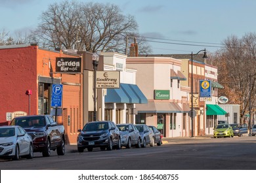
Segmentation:
<svg viewBox="0 0 256 183">
<path fill-rule="evenodd" d="M 62 107 L 62 84 L 53 84 L 51 107 Z"/>
</svg>

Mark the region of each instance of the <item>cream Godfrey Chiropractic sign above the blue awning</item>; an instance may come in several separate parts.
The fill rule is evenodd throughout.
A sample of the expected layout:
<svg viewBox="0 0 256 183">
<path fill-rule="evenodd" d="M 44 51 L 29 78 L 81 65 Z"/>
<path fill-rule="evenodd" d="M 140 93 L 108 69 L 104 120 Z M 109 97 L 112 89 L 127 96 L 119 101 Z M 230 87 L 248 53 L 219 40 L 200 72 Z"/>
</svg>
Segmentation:
<svg viewBox="0 0 256 183">
<path fill-rule="evenodd" d="M 119 88 L 119 71 L 96 71 L 96 88 Z"/>
</svg>

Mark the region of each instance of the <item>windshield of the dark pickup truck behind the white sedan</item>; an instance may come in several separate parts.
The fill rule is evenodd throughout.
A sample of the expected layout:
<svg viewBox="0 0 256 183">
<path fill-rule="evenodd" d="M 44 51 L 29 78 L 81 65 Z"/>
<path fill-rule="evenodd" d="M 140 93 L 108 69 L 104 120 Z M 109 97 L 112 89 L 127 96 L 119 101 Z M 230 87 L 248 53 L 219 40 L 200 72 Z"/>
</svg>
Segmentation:
<svg viewBox="0 0 256 183">
<path fill-rule="evenodd" d="M 14 118 L 11 125 L 19 125 L 21 127 L 42 127 L 45 126 L 44 116 L 34 116 L 29 118 Z"/>
</svg>

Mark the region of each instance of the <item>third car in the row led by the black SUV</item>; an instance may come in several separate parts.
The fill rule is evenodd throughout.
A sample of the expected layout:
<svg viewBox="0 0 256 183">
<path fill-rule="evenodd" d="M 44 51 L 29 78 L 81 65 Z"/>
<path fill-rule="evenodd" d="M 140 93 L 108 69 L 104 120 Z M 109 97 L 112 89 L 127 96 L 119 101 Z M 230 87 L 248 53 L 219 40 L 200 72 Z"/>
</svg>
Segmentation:
<svg viewBox="0 0 256 183">
<path fill-rule="evenodd" d="M 152 129 L 146 124 L 137 124 L 135 127 L 139 130 L 142 148 L 145 148 L 147 144 L 154 146 L 154 132 Z"/>
</svg>

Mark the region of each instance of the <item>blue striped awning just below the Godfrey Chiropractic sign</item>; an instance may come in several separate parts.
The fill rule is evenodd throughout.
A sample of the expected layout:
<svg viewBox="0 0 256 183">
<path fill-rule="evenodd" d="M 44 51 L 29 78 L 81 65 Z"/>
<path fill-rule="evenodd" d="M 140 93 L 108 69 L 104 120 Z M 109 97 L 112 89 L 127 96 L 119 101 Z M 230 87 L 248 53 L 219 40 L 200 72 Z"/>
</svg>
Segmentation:
<svg viewBox="0 0 256 183">
<path fill-rule="evenodd" d="M 136 84 L 120 83 L 118 89 L 107 89 L 105 103 L 148 103 Z"/>
</svg>

